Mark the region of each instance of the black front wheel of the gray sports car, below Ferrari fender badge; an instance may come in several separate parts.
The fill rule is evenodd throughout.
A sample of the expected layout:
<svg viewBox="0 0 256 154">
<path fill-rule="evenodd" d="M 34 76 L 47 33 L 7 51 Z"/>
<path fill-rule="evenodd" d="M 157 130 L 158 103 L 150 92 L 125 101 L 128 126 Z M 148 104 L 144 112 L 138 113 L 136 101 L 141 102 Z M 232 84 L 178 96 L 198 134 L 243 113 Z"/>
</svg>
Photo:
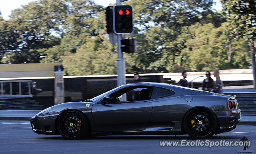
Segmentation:
<svg viewBox="0 0 256 154">
<path fill-rule="evenodd" d="M 58 131 L 66 139 L 84 138 L 88 131 L 85 116 L 76 110 L 62 113 L 57 122 Z"/>
</svg>

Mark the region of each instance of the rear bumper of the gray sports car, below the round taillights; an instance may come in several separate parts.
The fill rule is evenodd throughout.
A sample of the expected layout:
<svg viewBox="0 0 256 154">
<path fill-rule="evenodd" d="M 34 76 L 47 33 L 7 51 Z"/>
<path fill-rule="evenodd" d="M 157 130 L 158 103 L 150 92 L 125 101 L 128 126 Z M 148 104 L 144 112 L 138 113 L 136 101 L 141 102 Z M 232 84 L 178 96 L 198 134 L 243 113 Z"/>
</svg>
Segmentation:
<svg viewBox="0 0 256 154">
<path fill-rule="evenodd" d="M 216 134 L 229 132 L 236 128 L 237 123 L 241 120 L 241 110 L 214 111 L 217 116 L 219 128 Z"/>
</svg>

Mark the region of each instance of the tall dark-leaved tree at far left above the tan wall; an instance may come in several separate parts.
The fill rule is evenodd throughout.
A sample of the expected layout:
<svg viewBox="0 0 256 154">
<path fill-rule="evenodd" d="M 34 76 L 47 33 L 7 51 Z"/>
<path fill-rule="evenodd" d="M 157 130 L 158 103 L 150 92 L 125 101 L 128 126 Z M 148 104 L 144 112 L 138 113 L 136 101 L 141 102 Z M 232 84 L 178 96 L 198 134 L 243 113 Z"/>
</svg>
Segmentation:
<svg viewBox="0 0 256 154">
<path fill-rule="evenodd" d="M 39 63 L 38 49 L 59 44 L 67 9 L 62 0 L 40 0 L 12 11 L 7 22 L 16 34 L 13 63 Z"/>
</svg>

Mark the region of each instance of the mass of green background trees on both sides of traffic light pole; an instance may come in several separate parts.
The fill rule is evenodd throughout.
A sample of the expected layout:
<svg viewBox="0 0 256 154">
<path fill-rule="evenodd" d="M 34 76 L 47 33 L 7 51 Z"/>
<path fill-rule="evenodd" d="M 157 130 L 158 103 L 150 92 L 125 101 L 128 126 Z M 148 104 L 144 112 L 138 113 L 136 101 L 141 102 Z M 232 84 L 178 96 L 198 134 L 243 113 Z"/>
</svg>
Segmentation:
<svg viewBox="0 0 256 154">
<path fill-rule="evenodd" d="M 248 45 L 234 40 L 244 29 L 230 31 L 228 13 L 213 12 L 212 3 L 124 2 L 134 7 L 134 34 L 140 34 L 138 53 L 124 53 L 126 73 L 248 68 Z M 117 45 L 108 41 L 105 9 L 93 0 L 38 0 L 10 17 L 7 21 L 0 17 L 0 59 L 11 56 L 12 63 L 44 63 L 45 58 L 39 57 L 47 55 L 48 63 L 62 63 L 66 75 L 116 74 Z"/>
</svg>

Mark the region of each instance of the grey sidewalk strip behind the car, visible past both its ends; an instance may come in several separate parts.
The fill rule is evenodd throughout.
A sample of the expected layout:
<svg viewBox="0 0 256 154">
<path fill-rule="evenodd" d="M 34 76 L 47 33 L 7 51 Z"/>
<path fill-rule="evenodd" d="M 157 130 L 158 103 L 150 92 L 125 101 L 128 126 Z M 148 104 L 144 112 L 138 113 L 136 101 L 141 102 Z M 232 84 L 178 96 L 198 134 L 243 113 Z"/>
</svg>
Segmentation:
<svg viewBox="0 0 256 154">
<path fill-rule="evenodd" d="M 0 110 L 0 120 L 30 120 L 39 110 Z M 256 126 L 256 116 L 241 116 L 238 125 Z"/>
</svg>

